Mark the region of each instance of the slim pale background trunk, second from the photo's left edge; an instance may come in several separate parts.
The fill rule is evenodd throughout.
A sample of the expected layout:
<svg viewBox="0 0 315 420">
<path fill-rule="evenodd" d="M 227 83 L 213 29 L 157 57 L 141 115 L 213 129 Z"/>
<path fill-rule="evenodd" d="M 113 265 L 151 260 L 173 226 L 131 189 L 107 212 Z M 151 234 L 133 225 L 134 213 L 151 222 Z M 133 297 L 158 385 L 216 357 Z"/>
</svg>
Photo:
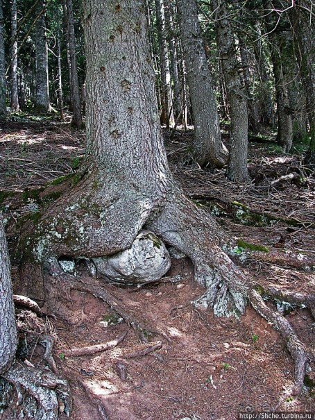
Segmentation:
<svg viewBox="0 0 315 420">
<path fill-rule="evenodd" d="M 19 112 L 17 89 L 17 0 L 11 0 L 11 110 Z"/>
</svg>

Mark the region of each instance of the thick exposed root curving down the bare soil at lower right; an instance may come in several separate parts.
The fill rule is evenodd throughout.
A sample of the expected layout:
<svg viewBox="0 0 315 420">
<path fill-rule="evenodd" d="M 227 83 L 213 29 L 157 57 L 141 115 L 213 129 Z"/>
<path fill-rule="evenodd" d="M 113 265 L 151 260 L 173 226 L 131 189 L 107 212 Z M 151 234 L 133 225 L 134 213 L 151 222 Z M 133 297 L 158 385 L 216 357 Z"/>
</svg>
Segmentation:
<svg viewBox="0 0 315 420">
<path fill-rule="evenodd" d="M 274 328 L 278 330 L 285 339 L 294 363 L 294 380 L 296 385 L 292 389 L 292 394 L 300 394 L 303 387 L 307 360 L 309 359 L 304 344 L 300 342 L 287 319 L 279 312 L 269 308 L 266 303 L 264 303 L 262 296 L 254 289 L 250 291 L 250 303 L 264 319 L 273 323 Z"/>
</svg>

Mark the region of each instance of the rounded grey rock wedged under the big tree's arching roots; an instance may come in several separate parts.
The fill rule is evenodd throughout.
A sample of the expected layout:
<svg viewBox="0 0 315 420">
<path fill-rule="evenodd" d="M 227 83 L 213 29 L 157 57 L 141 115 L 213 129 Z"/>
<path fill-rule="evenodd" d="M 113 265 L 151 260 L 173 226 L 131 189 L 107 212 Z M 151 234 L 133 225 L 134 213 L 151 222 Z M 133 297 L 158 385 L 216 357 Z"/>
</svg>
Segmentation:
<svg viewBox="0 0 315 420">
<path fill-rule="evenodd" d="M 160 280 L 171 267 L 164 243 L 149 230 L 141 230 L 130 249 L 93 258 L 96 269 L 117 283 L 137 284 Z"/>
</svg>

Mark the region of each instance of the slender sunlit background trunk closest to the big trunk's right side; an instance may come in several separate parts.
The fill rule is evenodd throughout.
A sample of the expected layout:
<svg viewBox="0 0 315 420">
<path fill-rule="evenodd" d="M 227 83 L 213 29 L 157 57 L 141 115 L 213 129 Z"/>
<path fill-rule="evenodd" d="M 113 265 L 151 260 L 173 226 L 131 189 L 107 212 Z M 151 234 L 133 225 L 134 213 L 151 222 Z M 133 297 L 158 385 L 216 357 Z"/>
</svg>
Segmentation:
<svg viewBox="0 0 315 420">
<path fill-rule="evenodd" d="M 162 114 L 161 123 L 167 128 L 173 126 L 173 101 L 171 92 L 171 73 L 169 71 L 169 53 L 167 47 L 167 33 L 165 28 L 164 1 L 155 0 L 157 36 L 160 45 L 160 66 L 162 83 Z"/>
</svg>

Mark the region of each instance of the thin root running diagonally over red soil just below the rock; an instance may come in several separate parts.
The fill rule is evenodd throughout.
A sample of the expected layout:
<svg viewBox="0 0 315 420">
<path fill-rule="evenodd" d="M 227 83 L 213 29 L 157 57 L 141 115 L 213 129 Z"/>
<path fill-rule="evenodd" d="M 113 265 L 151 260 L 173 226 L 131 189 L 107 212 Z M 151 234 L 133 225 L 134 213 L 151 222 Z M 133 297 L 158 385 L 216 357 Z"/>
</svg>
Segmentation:
<svg viewBox="0 0 315 420">
<path fill-rule="evenodd" d="M 151 326 L 146 326 L 139 322 L 132 314 L 127 312 L 124 308 L 122 308 L 121 303 L 119 303 L 118 299 L 116 299 L 108 290 L 105 290 L 104 283 L 99 283 L 96 280 L 91 280 L 88 285 L 84 284 L 80 280 L 76 280 L 75 278 L 71 278 L 67 276 L 65 278 L 67 284 L 71 289 L 76 289 L 80 292 L 87 292 L 92 294 L 98 299 L 101 299 L 105 303 L 110 306 L 110 309 L 114 312 L 117 312 L 126 323 L 133 328 L 135 333 L 142 339 L 143 342 L 148 342 L 146 337 L 147 333 L 152 333 L 154 335 L 161 335 L 164 339 L 167 339 L 168 342 L 171 342 L 171 339 L 162 331 L 157 330 L 157 328 L 153 328 Z"/>
</svg>

